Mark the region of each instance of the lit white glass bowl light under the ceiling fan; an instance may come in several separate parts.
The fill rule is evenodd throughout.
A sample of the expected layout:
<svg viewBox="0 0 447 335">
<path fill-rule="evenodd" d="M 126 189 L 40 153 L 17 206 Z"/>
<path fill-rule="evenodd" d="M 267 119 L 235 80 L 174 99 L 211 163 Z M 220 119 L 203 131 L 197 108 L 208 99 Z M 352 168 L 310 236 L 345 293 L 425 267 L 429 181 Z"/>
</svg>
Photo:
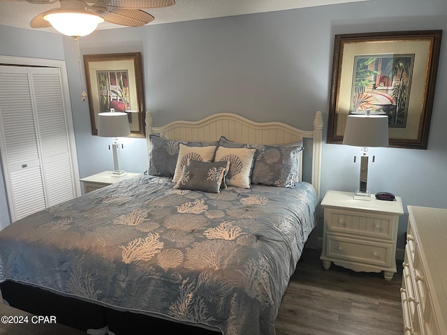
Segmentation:
<svg viewBox="0 0 447 335">
<path fill-rule="evenodd" d="M 98 24 L 104 22 L 102 17 L 87 12 L 50 13 L 43 18 L 59 33 L 71 37 L 87 36 L 98 27 Z"/>
</svg>

